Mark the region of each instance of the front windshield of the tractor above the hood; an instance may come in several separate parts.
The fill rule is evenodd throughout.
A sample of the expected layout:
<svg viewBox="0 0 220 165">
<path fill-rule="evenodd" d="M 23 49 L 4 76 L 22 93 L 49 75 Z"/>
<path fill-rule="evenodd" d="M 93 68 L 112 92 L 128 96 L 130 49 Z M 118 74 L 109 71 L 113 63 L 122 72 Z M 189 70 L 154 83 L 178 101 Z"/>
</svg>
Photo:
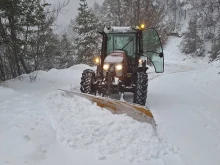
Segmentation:
<svg viewBox="0 0 220 165">
<path fill-rule="evenodd" d="M 128 56 L 135 55 L 135 34 L 108 34 L 107 54 L 115 50 L 124 50 Z"/>
</svg>

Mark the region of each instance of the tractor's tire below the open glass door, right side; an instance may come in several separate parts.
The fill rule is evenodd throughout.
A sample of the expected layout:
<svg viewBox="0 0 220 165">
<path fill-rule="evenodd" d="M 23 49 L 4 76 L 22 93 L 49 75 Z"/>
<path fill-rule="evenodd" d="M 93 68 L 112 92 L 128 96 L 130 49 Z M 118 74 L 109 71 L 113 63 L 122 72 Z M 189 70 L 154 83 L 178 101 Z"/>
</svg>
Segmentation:
<svg viewBox="0 0 220 165">
<path fill-rule="evenodd" d="M 133 103 L 145 106 L 148 92 L 148 74 L 138 72 L 135 85 Z"/>
</svg>

